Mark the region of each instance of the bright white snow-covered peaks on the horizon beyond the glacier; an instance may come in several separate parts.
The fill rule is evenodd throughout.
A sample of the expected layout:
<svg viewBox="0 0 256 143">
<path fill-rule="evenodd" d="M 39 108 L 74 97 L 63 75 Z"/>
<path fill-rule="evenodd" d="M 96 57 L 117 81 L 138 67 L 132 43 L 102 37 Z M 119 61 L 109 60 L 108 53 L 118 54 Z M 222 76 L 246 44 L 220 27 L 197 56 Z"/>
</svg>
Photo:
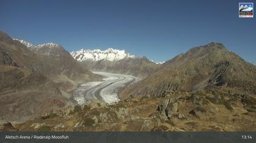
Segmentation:
<svg viewBox="0 0 256 143">
<path fill-rule="evenodd" d="M 116 50 L 113 48 L 108 48 L 107 50 L 85 50 L 82 48 L 79 51 L 71 52 L 71 56 L 77 61 L 119 61 L 124 58 L 135 58 L 136 56 L 130 55 L 130 53 L 126 52 L 126 50 Z"/>
</svg>

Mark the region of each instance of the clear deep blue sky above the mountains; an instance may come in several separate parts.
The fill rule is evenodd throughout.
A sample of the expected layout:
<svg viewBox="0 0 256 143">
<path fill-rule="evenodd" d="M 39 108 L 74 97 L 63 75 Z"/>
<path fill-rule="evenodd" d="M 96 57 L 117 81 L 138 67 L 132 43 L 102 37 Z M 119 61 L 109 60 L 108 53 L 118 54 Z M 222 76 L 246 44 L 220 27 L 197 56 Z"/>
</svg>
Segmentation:
<svg viewBox="0 0 256 143">
<path fill-rule="evenodd" d="M 238 18 L 239 2 L 0 0 L 0 29 L 32 44 L 55 42 L 69 52 L 117 48 L 156 62 L 221 42 L 256 64 L 256 19 Z"/>
</svg>

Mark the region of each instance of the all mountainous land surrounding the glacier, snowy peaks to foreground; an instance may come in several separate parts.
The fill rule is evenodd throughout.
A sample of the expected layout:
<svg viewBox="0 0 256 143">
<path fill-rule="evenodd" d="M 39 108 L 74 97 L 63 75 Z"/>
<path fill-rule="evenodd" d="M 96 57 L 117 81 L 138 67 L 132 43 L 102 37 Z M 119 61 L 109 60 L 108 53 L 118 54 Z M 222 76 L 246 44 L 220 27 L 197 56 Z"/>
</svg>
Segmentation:
<svg viewBox="0 0 256 143">
<path fill-rule="evenodd" d="M 102 81 L 90 70 L 142 80 L 122 89 L 117 103 L 78 105 L 72 91 Z M 4 131 L 256 130 L 256 66 L 218 42 L 156 64 L 125 50 L 69 53 L 0 31 L 0 79 Z"/>
</svg>

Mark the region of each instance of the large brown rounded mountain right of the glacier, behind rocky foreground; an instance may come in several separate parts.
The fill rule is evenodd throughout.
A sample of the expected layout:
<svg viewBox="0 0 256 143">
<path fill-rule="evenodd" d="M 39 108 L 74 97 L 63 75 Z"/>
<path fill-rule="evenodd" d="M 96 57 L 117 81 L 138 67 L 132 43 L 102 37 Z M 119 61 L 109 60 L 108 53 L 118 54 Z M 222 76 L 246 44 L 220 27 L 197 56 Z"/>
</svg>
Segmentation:
<svg viewBox="0 0 256 143">
<path fill-rule="evenodd" d="M 121 93 L 129 95 L 152 95 L 160 97 L 166 90 L 213 90 L 231 93 L 256 94 L 256 67 L 224 45 L 210 43 L 191 48 L 169 61 L 146 79 L 137 82 Z"/>
</svg>

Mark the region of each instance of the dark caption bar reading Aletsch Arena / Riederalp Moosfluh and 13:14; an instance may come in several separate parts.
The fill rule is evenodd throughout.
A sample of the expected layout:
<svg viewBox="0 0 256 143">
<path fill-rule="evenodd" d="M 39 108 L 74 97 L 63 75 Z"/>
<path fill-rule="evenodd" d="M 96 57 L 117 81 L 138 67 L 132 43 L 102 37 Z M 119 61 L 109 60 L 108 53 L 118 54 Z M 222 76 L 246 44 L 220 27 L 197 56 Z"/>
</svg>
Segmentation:
<svg viewBox="0 0 256 143">
<path fill-rule="evenodd" d="M 10 139 L 13 138 L 18 139 Z M 30 139 L 21 139 L 29 136 Z M 67 137 L 68 136 L 68 137 Z M 37 137 L 38 139 L 35 139 Z M 55 137 L 55 138 L 54 138 Z M 57 139 L 57 138 L 59 139 Z M 9 139 L 8 139 L 9 138 Z M 27 137 L 28 138 L 28 137 Z M 256 132 L 193 131 L 193 132 L 0 132 L 0 142 L 147 142 L 147 143 L 236 143 L 256 142 Z"/>
</svg>

